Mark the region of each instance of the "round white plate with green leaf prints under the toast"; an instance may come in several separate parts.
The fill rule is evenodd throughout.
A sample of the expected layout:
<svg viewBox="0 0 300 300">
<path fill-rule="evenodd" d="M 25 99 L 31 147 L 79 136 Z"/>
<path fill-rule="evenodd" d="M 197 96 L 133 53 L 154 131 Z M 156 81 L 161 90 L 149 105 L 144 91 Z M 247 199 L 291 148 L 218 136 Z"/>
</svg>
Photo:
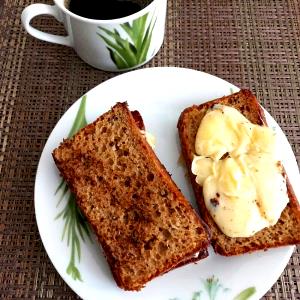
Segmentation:
<svg viewBox="0 0 300 300">
<path fill-rule="evenodd" d="M 139 110 L 146 129 L 156 136 L 155 152 L 194 205 L 190 184 L 184 176 L 186 170 L 178 164 L 178 117 L 187 106 L 233 91 L 238 91 L 238 88 L 195 70 L 142 69 L 114 77 L 89 91 L 86 94 L 86 120 L 92 122 L 117 101 L 127 101 L 130 109 Z M 223 300 L 233 299 L 247 288 L 250 289 L 238 299 L 248 299 L 247 292 L 251 294 L 254 291 L 251 299 L 262 297 L 284 270 L 294 247 L 230 258 L 215 255 L 210 249 L 210 256 L 198 264 L 190 264 L 160 276 L 140 292 L 125 292 L 116 286 L 97 242 L 87 239 L 84 242 L 79 237 L 81 259 L 78 261 L 75 256 L 74 265 L 82 280 L 75 280 L 67 274 L 72 247 L 71 244 L 67 246 L 66 237 L 64 240 L 61 238 L 64 220 L 55 220 L 65 207 L 67 197 L 57 205 L 59 195 L 55 195 L 55 191 L 61 179 L 51 152 L 68 136 L 80 103 L 81 99 L 76 101 L 52 131 L 39 162 L 35 183 L 35 210 L 40 235 L 53 265 L 65 282 L 84 299 Z M 295 157 L 279 126 L 268 113 L 266 115 L 269 125 L 276 128 L 278 133 L 283 163 L 299 198 L 299 184 L 296 183 L 300 182 L 300 175 Z"/>
</svg>

